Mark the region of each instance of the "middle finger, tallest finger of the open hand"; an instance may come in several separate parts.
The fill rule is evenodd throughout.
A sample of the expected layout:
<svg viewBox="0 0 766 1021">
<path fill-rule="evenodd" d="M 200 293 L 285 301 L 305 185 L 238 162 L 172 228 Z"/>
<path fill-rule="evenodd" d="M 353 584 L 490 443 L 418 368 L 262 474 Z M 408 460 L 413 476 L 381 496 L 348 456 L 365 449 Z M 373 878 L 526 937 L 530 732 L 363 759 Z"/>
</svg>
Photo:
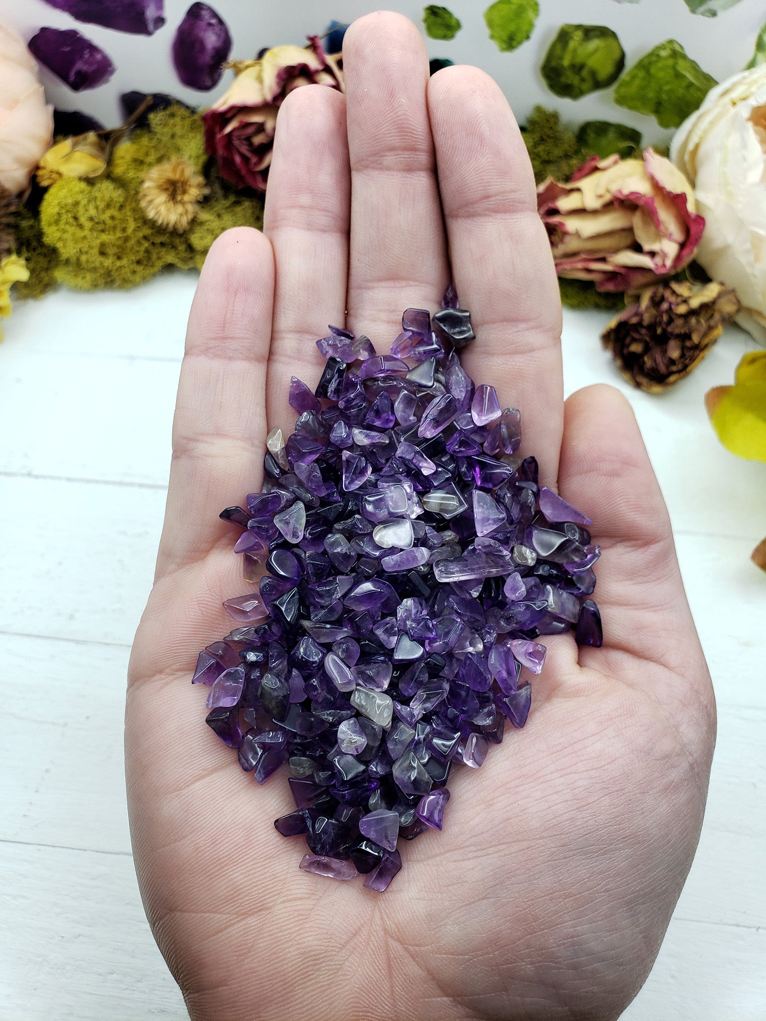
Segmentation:
<svg viewBox="0 0 766 1021">
<path fill-rule="evenodd" d="M 438 307 L 446 244 L 426 108 L 428 56 L 399 14 L 378 12 L 343 42 L 351 159 L 350 328 L 388 350 L 405 307 Z"/>
</svg>

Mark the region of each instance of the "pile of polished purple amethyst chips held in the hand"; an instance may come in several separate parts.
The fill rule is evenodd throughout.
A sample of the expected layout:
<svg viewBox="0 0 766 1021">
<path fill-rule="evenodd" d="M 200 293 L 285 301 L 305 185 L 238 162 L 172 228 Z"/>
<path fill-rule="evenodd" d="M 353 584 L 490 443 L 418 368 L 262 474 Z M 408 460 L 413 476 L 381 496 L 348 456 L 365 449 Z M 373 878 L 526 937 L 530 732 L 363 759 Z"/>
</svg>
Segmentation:
<svg viewBox="0 0 766 1021">
<path fill-rule="evenodd" d="M 206 722 L 262 783 L 284 763 L 305 834 L 301 869 L 384 890 L 397 838 L 441 829 L 453 766 L 478 768 L 506 721 L 523 727 L 542 669 L 535 639 L 601 645 L 588 520 L 538 486 L 520 417 L 474 387 L 473 339 L 450 288 L 410 308 L 390 354 L 331 327 L 313 393 L 297 379 L 266 482 L 222 518 L 258 593 L 199 654 Z"/>
</svg>

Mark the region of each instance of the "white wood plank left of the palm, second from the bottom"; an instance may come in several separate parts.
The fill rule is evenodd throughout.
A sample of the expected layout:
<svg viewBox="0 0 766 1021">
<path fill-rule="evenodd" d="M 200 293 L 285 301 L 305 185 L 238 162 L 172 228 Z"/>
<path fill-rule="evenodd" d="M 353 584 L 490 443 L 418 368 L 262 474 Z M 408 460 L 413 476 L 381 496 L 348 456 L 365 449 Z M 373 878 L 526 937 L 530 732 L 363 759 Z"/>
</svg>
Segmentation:
<svg viewBox="0 0 766 1021">
<path fill-rule="evenodd" d="M 0 839 L 129 855 L 129 649 L 0 635 Z M 19 697 L 19 684 L 36 697 Z"/>
</svg>

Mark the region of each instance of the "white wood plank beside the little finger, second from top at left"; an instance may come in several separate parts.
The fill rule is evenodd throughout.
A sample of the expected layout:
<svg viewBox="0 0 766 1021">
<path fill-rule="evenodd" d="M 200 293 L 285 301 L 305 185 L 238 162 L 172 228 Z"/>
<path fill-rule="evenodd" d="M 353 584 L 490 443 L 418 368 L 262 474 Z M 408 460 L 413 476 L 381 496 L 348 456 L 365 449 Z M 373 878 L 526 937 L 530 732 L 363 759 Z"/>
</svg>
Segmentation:
<svg viewBox="0 0 766 1021">
<path fill-rule="evenodd" d="M 164 487 L 180 362 L 2 352 L 0 473 Z"/>
</svg>

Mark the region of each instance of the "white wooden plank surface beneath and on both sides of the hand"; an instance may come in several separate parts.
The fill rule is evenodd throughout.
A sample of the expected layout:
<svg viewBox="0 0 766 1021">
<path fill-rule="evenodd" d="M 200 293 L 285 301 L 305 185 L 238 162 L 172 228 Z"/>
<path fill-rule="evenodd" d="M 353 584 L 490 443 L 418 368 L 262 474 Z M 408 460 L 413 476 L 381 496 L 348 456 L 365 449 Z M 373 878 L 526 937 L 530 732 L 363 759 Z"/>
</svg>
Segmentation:
<svg viewBox="0 0 766 1021">
<path fill-rule="evenodd" d="M 0 1016 L 183 1019 L 136 886 L 123 778 L 130 644 L 162 519 L 192 275 L 16 307 L 0 347 Z M 566 317 L 567 391 L 622 386 L 600 313 Z M 629 1021 L 766 1019 L 766 467 L 703 408 L 753 347 L 729 331 L 633 402 L 719 700 L 700 849 Z"/>
</svg>

